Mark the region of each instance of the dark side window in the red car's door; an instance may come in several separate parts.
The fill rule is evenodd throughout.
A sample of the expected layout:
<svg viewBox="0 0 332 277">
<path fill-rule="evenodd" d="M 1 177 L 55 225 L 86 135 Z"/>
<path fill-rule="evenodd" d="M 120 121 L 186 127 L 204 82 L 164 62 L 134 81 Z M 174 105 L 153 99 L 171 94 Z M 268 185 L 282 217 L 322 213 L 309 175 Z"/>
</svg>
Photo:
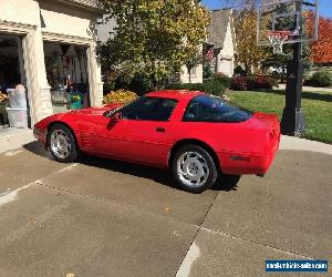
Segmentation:
<svg viewBox="0 0 332 277">
<path fill-rule="evenodd" d="M 168 121 L 176 104 L 177 101 L 172 99 L 143 96 L 123 107 L 121 112 L 126 120 Z"/>
</svg>

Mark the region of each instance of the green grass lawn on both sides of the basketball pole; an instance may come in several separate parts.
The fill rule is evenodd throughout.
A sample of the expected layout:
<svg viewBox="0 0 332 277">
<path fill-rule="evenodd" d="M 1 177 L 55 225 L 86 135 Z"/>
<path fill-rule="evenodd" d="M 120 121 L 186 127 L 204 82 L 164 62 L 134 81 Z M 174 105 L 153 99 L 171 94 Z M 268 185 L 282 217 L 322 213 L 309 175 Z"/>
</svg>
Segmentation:
<svg viewBox="0 0 332 277">
<path fill-rule="evenodd" d="M 277 113 L 281 119 L 284 91 L 228 91 L 230 101 L 251 111 Z M 332 93 L 303 92 L 302 109 L 305 116 L 305 138 L 332 144 Z"/>
</svg>

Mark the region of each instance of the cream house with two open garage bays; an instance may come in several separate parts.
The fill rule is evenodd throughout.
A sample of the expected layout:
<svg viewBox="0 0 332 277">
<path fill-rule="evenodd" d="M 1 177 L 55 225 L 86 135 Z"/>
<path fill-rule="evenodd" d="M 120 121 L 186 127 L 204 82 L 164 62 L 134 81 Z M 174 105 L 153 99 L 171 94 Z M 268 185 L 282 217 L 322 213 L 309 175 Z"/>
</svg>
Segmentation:
<svg viewBox="0 0 332 277">
<path fill-rule="evenodd" d="M 97 0 L 1 0 L 0 11 L 0 91 L 27 88 L 31 125 L 74 107 L 66 86 L 80 105 L 102 104 Z"/>
</svg>

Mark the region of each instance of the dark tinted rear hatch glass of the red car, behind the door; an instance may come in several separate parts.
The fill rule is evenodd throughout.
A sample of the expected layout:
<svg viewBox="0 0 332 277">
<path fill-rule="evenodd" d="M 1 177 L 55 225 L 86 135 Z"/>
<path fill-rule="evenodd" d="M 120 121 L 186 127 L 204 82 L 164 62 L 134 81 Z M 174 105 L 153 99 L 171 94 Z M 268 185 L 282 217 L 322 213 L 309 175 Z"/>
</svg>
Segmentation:
<svg viewBox="0 0 332 277">
<path fill-rule="evenodd" d="M 243 122 L 252 112 L 225 101 L 218 96 L 199 95 L 188 104 L 183 121 L 185 122 Z"/>
</svg>

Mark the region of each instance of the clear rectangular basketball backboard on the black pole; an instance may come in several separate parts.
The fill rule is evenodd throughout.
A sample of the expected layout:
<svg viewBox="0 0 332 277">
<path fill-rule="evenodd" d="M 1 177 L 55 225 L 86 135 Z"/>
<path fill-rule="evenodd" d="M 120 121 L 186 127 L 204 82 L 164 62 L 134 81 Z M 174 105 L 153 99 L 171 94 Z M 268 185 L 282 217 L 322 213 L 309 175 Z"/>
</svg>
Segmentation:
<svg viewBox="0 0 332 277">
<path fill-rule="evenodd" d="M 257 44 L 271 45 L 269 32 L 287 31 L 283 43 L 318 40 L 319 0 L 261 0 L 258 9 Z"/>
</svg>

